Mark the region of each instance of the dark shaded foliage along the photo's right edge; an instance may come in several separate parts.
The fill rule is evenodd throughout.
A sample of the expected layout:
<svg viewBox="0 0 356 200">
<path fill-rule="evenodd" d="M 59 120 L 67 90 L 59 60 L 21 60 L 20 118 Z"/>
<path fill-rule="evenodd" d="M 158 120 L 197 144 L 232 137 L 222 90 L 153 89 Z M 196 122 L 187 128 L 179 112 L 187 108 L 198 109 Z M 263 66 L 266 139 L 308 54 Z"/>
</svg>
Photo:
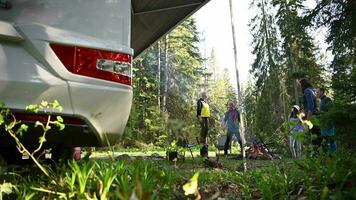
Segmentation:
<svg viewBox="0 0 356 200">
<path fill-rule="evenodd" d="M 332 72 L 332 93 L 335 106 L 321 117 L 321 123 L 334 124 L 337 138 L 352 147 L 355 133 L 356 102 L 356 20 L 355 1 L 322 0 L 308 12 L 306 19 L 314 29 L 328 30 L 326 42 L 333 54 L 328 66 Z"/>
</svg>

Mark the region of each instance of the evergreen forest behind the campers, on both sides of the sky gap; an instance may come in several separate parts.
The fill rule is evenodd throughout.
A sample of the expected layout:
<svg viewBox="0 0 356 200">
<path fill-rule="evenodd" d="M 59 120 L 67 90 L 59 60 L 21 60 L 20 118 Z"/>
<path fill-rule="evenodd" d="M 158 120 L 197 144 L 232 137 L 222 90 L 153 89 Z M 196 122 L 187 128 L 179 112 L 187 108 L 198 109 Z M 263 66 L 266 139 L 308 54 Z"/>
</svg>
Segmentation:
<svg viewBox="0 0 356 200">
<path fill-rule="evenodd" d="M 284 145 L 283 127 L 292 105 L 303 104 L 298 80 L 326 88 L 334 101 L 325 120 L 335 122 L 343 147 L 352 148 L 355 130 L 355 15 L 352 1 L 320 1 L 314 9 L 303 1 L 253 1 L 253 78 L 242 88 L 239 110 L 246 137 Z M 332 54 L 326 60 L 314 33 L 327 30 L 325 43 Z M 212 108 L 210 138 L 221 134 L 229 100 L 237 101 L 227 70 L 218 73 L 214 49 L 203 58 L 194 18 L 187 19 L 135 60 L 134 100 L 125 145 L 143 142 L 161 145 L 186 135 L 194 140 L 200 126 L 196 101 L 207 91 Z M 231 66 L 232 67 L 232 66 Z"/>
</svg>

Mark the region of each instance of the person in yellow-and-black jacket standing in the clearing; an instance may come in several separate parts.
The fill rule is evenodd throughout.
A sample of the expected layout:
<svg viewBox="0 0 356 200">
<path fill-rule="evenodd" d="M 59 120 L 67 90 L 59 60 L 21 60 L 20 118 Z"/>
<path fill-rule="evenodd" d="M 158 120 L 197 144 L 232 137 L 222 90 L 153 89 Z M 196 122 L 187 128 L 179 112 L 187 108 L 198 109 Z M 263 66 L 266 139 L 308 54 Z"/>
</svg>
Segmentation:
<svg viewBox="0 0 356 200">
<path fill-rule="evenodd" d="M 197 118 L 201 126 L 200 142 L 202 144 L 207 144 L 207 137 L 209 131 L 208 118 L 210 117 L 210 108 L 207 99 L 208 99 L 207 93 L 202 92 L 201 98 L 197 101 Z"/>
</svg>

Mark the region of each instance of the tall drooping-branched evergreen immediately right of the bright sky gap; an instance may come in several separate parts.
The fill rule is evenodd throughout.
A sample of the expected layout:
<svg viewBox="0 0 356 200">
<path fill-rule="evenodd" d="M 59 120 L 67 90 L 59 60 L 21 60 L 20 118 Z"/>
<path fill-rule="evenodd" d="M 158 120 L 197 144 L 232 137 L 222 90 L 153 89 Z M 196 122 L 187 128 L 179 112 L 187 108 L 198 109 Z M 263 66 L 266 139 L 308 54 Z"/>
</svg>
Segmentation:
<svg viewBox="0 0 356 200">
<path fill-rule="evenodd" d="M 286 121 L 289 95 L 274 4 L 259 0 L 252 7 L 256 13 L 250 22 L 255 56 L 251 72 L 256 80 L 255 87 L 250 83 L 245 89 L 246 127 L 250 134 L 266 140 Z"/>
</svg>

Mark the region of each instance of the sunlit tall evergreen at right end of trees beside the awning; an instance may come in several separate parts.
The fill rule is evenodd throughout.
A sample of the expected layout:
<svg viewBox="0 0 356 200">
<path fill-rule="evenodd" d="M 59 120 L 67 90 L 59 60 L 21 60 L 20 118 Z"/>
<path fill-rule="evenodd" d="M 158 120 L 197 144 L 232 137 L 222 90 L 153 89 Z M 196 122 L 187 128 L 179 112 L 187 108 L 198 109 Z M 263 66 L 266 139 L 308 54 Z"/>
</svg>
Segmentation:
<svg viewBox="0 0 356 200">
<path fill-rule="evenodd" d="M 196 98 L 195 89 L 202 77 L 203 61 L 198 43 L 198 31 L 193 18 L 187 19 L 169 34 L 167 105 L 172 105 L 172 102 L 178 105 L 168 106 L 167 109 L 175 119 L 189 119 L 186 114 L 190 112 L 191 102 Z"/>
</svg>

